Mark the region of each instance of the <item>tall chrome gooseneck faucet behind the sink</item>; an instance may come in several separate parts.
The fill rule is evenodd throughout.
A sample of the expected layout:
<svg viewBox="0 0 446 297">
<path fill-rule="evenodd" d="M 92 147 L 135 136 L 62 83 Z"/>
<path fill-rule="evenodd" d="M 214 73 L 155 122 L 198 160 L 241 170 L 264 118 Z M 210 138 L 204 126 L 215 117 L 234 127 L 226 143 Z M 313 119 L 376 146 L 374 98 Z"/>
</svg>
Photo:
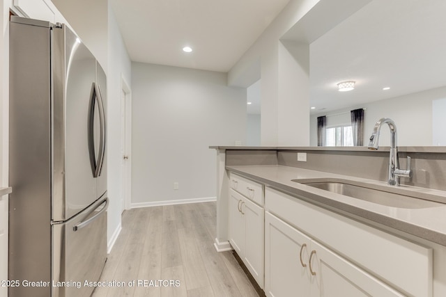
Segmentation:
<svg viewBox="0 0 446 297">
<path fill-rule="evenodd" d="M 383 124 L 389 125 L 390 128 L 390 157 L 389 157 L 389 175 L 387 184 L 391 186 L 399 186 L 400 177 L 412 177 L 410 170 L 410 156 L 407 157 L 407 169 L 399 169 L 398 149 L 397 149 L 397 125 L 390 118 L 380 118 L 376 122 L 374 131 L 370 136 L 369 150 L 378 150 L 379 132 Z"/>
</svg>

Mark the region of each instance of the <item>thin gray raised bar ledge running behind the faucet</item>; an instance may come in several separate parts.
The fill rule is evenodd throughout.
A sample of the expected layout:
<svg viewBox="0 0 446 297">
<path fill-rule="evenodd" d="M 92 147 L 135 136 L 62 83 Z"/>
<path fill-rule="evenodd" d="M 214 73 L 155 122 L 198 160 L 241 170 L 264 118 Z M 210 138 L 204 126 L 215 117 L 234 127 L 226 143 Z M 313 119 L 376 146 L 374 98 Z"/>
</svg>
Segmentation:
<svg viewBox="0 0 446 297">
<path fill-rule="evenodd" d="M 305 151 L 327 151 L 327 152 L 373 152 L 367 147 L 270 147 L 270 146 L 224 146 L 210 145 L 214 150 L 305 150 Z M 379 147 L 378 152 L 389 152 L 390 147 Z M 446 153 L 446 146 L 438 147 L 417 147 L 399 146 L 399 152 L 420 152 L 420 153 Z M 375 151 L 376 152 L 376 151 Z"/>
</svg>

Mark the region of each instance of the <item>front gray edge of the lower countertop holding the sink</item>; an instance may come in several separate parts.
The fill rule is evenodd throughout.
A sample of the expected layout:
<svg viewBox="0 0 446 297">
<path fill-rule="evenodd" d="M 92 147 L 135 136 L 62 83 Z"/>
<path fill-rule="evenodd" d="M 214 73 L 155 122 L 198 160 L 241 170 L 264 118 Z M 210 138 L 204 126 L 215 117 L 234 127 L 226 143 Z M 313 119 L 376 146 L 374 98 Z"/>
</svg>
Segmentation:
<svg viewBox="0 0 446 297">
<path fill-rule="evenodd" d="M 351 204 L 346 204 L 339 202 L 337 200 L 332 200 L 330 198 L 323 197 L 321 195 L 315 195 L 314 193 L 309 193 L 307 191 L 302 191 L 299 188 L 293 188 L 291 186 L 286 186 L 279 182 L 274 182 L 270 179 L 265 179 L 256 175 L 251 175 L 243 170 L 237 170 L 231 166 L 226 166 L 226 169 L 243 175 L 249 179 L 253 179 L 256 182 L 265 184 L 265 186 L 274 188 L 277 191 L 292 195 L 295 198 L 304 200 L 318 207 L 323 207 L 334 213 L 341 214 L 342 216 L 347 216 L 354 220 L 360 220 L 362 223 L 368 223 L 367 220 L 371 222 L 390 227 L 395 230 L 405 232 L 407 234 L 438 243 L 442 246 L 446 246 L 446 234 L 437 232 L 435 230 L 430 230 L 428 228 L 421 227 L 419 225 L 411 224 L 403 220 L 398 220 L 396 218 L 391 218 L 383 214 L 376 214 L 373 211 L 368 211 L 360 207 L 355 207 Z"/>
</svg>

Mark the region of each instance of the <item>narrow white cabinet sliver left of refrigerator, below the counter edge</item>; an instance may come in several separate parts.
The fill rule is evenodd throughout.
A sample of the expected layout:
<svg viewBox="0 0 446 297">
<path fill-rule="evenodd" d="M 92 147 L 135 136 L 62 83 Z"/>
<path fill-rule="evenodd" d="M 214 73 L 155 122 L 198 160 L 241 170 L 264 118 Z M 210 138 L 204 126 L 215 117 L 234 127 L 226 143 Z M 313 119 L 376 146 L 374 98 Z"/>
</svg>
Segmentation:
<svg viewBox="0 0 446 297">
<path fill-rule="evenodd" d="M 0 196 L 0 280 L 8 280 L 8 195 Z M 0 284 L 0 297 L 8 296 L 8 287 Z"/>
</svg>

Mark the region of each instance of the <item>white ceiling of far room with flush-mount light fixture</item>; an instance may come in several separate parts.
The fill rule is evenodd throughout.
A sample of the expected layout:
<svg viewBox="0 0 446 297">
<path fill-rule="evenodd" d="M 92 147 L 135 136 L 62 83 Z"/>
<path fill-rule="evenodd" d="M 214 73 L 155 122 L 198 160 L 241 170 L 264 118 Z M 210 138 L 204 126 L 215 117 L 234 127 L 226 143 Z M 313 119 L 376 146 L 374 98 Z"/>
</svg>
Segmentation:
<svg viewBox="0 0 446 297">
<path fill-rule="evenodd" d="M 445 16 L 445 0 L 374 0 L 312 42 L 312 113 L 446 86 Z"/>
</svg>

